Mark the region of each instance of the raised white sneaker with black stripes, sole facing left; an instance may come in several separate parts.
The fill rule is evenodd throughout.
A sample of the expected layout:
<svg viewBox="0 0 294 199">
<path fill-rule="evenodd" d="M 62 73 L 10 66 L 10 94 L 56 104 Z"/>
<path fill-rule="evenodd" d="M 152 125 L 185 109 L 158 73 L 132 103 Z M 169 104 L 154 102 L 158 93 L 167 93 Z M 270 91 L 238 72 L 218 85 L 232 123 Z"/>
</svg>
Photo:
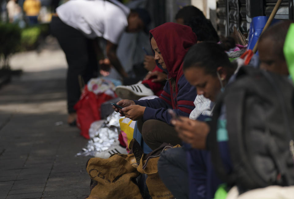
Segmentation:
<svg viewBox="0 0 294 199">
<path fill-rule="evenodd" d="M 121 99 L 139 100 L 141 97 L 152 96 L 154 92 L 144 84 L 138 83 L 129 86 L 117 86 L 116 95 Z"/>
</svg>

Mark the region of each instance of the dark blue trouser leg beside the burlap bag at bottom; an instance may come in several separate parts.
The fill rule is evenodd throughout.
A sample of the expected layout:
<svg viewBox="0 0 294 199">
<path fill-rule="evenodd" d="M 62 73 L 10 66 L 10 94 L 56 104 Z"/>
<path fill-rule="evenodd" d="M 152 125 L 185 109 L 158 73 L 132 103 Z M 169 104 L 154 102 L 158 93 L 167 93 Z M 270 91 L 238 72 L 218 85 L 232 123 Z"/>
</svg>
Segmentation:
<svg viewBox="0 0 294 199">
<path fill-rule="evenodd" d="M 189 198 L 187 158 L 183 148 L 162 152 L 158 160 L 158 174 L 175 198 Z"/>
</svg>

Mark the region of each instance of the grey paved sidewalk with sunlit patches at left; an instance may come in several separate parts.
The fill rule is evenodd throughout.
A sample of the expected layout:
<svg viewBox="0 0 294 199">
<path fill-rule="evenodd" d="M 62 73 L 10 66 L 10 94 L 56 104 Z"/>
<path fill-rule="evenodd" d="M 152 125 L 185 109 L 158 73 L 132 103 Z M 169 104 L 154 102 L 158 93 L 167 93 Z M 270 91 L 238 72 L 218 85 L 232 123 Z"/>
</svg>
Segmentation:
<svg viewBox="0 0 294 199">
<path fill-rule="evenodd" d="M 63 52 L 21 53 L 11 65 L 24 73 L 0 88 L 0 199 L 85 198 L 90 157 L 74 156 L 87 140 L 66 124 Z"/>
</svg>

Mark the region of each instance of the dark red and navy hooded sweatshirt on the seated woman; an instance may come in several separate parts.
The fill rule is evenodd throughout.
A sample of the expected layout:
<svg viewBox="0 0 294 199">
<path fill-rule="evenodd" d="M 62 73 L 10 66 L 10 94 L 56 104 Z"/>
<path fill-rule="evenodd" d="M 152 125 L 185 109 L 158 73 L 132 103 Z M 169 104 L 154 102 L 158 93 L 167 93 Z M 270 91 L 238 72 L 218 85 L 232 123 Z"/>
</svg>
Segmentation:
<svg viewBox="0 0 294 199">
<path fill-rule="evenodd" d="M 183 59 L 189 48 L 197 43 L 197 36 L 189 26 L 165 23 L 150 31 L 165 62 L 168 78 L 176 79 L 175 92 L 170 81 L 166 82 L 159 98 L 152 100 L 135 100 L 136 104 L 146 107 L 143 120 L 158 119 L 170 124 L 171 108 L 178 115 L 189 116 L 195 108 L 193 102 L 197 96 L 196 88 L 191 86 L 183 75 Z M 154 54 L 154 52 L 153 52 Z M 162 69 L 162 66 L 157 66 Z"/>
</svg>

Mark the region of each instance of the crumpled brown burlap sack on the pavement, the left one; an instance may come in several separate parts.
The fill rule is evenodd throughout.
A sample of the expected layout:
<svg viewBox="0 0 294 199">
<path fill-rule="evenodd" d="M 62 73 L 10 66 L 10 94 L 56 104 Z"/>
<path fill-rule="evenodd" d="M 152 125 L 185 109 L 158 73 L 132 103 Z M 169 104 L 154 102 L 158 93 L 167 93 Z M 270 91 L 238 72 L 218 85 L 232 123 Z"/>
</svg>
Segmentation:
<svg viewBox="0 0 294 199">
<path fill-rule="evenodd" d="M 91 178 L 91 193 L 87 199 L 141 199 L 139 188 L 132 181 L 139 175 L 136 167 L 134 154 L 91 158 L 86 168 Z"/>
</svg>

